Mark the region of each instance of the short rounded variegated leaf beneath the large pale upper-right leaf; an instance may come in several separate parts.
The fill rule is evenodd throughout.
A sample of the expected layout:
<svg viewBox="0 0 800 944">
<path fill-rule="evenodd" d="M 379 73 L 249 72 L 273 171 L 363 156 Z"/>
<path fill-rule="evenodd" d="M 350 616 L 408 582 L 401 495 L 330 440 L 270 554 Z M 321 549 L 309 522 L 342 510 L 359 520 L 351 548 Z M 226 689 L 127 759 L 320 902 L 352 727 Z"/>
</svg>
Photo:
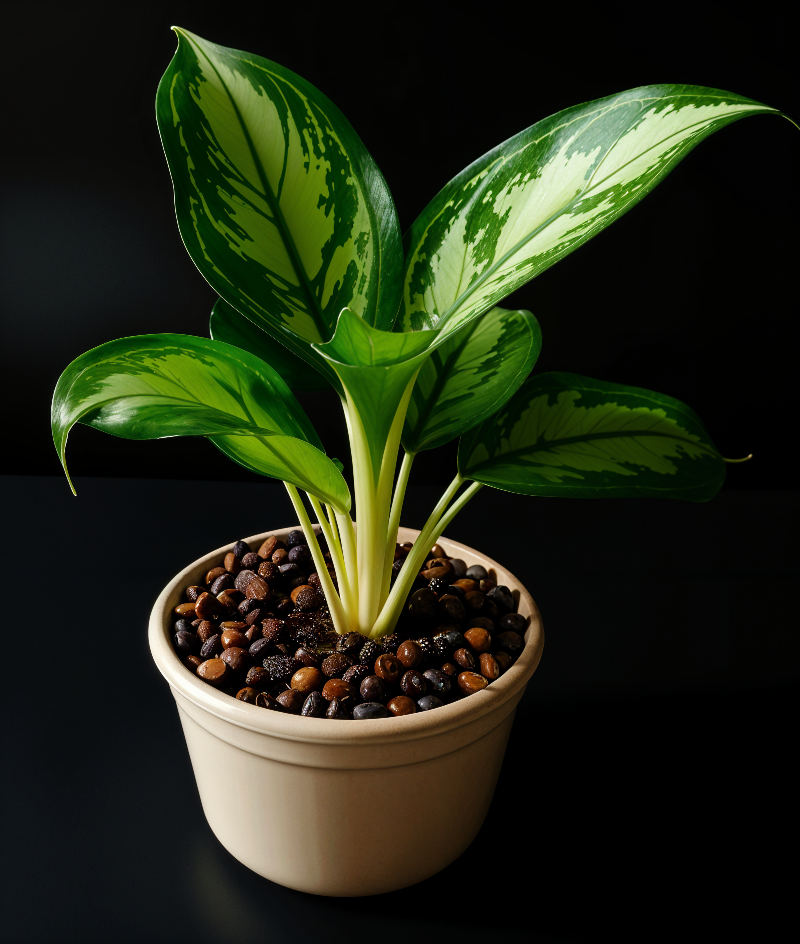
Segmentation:
<svg viewBox="0 0 800 944">
<path fill-rule="evenodd" d="M 531 312 L 493 308 L 448 334 L 419 371 L 403 448 L 444 446 L 496 413 L 533 370 L 540 350 L 541 329 Z"/>
</svg>

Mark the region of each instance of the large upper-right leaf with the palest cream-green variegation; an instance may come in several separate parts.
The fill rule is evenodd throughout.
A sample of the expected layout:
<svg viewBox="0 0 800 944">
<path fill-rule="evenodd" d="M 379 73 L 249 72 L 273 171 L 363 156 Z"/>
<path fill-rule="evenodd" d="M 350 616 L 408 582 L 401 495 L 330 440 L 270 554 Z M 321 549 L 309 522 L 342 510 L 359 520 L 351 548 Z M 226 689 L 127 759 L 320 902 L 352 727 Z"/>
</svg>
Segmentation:
<svg viewBox="0 0 800 944">
<path fill-rule="evenodd" d="M 658 85 L 560 111 L 500 144 L 406 233 L 398 329 L 460 328 L 619 219 L 708 135 L 758 113 L 780 112 Z"/>
</svg>

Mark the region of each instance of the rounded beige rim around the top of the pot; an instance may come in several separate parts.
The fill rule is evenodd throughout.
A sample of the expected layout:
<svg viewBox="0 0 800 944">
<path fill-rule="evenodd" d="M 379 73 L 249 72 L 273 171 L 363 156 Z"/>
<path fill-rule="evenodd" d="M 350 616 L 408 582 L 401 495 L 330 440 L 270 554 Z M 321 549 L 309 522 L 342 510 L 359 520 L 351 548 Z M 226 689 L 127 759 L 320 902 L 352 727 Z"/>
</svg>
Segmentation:
<svg viewBox="0 0 800 944">
<path fill-rule="evenodd" d="M 285 537 L 290 531 L 298 530 L 300 530 L 299 525 L 276 528 L 248 537 L 246 541 L 251 546 L 259 546 L 271 534 Z M 400 528 L 398 535 L 400 540 L 416 540 L 418 536 L 419 531 L 410 528 Z M 232 544 L 217 548 L 198 558 L 193 564 L 181 570 L 164 587 L 150 615 L 148 636 L 153 659 L 173 691 L 177 690 L 198 708 L 239 728 L 270 737 L 315 744 L 377 746 L 419 740 L 461 728 L 497 711 L 507 701 L 519 695 L 520 689 L 523 689 L 530 681 L 541 659 L 544 648 L 544 627 L 534 598 L 505 567 L 473 548 L 451 541 L 447 537 L 439 538 L 438 543 L 447 548 L 451 557 L 459 557 L 458 551 L 467 551 L 472 557 L 477 558 L 486 570 L 493 569 L 499 574 L 502 573 L 503 580 L 516 584 L 514 589 L 519 588 L 519 602 L 524 600 L 531 614 L 530 625 L 525 632 L 525 648 L 514 665 L 483 691 L 476 692 L 467 698 L 436 708 L 434 711 L 417 712 L 414 715 L 359 721 L 343 720 L 332 724 L 330 718 L 283 715 L 279 712 L 265 711 L 264 708 L 256 705 L 235 700 L 230 695 L 218 692 L 208 683 L 202 682 L 181 663 L 173 648 L 170 631 L 172 610 L 177 604 L 171 598 L 174 598 L 176 592 L 179 593 L 190 582 L 193 573 L 208 569 L 208 565 L 218 562 L 232 550 Z"/>
</svg>

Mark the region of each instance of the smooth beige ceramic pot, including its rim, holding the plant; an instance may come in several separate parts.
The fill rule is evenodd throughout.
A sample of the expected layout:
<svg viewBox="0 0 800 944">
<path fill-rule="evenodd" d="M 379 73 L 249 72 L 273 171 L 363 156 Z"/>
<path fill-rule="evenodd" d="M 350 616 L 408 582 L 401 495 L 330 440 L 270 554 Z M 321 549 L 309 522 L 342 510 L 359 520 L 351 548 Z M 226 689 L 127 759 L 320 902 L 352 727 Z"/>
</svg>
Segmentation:
<svg viewBox="0 0 800 944">
<path fill-rule="evenodd" d="M 295 528 L 267 534 L 285 537 Z M 401 528 L 399 540 L 418 533 Z M 258 548 L 267 534 L 247 543 Z M 315 895 L 396 891 L 449 866 L 483 825 L 544 631 L 533 598 L 504 567 L 446 538 L 439 544 L 451 557 L 494 571 L 519 599 L 529 627 L 525 649 L 500 679 L 417 715 L 281 715 L 197 679 L 172 647 L 173 609 L 230 547 L 187 567 L 158 598 L 150 649 L 178 702 L 206 818 L 222 845 L 264 878 Z M 387 817 L 386 809 L 402 815 Z"/>
</svg>

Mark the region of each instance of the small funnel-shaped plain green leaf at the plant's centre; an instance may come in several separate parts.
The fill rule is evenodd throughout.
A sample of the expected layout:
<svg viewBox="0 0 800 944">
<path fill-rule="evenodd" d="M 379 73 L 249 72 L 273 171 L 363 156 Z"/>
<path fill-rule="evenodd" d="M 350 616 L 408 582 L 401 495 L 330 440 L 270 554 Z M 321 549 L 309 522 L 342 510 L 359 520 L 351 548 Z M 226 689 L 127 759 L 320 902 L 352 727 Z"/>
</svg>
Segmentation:
<svg viewBox="0 0 800 944">
<path fill-rule="evenodd" d="M 397 334 L 371 328 L 345 309 L 332 341 L 316 345 L 347 391 L 349 404 L 366 430 L 369 458 L 377 482 L 386 437 L 406 389 L 430 356 L 435 331 Z"/>
</svg>

